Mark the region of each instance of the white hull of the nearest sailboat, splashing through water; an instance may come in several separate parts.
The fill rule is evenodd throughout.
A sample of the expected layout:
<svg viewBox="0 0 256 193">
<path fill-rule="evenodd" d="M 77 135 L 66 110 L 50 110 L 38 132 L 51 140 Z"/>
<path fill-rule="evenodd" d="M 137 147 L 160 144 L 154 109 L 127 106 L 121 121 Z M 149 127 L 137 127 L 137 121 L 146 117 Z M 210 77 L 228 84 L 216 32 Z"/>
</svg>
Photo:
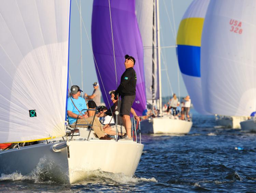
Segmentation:
<svg viewBox="0 0 256 193">
<path fill-rule="evenodd" d="M 133 141 L 72 140 L 69 147 L 53 150 L 66 142 L 42 143 L 0 152 L 0 174 L 43 175 L 54 181 L 74 183 L 98 170 L 133 176 L 144 145 Z M 69 149 L 69 153 L 68 153 Z M 69 155 L 68 155 L 69 154 Z"/>
</svg>

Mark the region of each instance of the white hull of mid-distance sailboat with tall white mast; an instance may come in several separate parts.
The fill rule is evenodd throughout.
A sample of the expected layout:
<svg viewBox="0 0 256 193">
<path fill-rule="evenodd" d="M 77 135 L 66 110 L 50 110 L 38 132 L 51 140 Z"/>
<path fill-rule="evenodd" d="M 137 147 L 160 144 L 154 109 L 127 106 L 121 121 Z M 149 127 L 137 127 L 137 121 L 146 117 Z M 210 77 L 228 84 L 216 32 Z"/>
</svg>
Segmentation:
<svg viewBox="0 0 256 193">
<path fill-rule="evenodd" d="M 180 119 L 170 119 L 168 116 L 155 117 L 151 120 L 141 121 L 141 133 L 189 133 L 193 122 Z"/>
</svg>

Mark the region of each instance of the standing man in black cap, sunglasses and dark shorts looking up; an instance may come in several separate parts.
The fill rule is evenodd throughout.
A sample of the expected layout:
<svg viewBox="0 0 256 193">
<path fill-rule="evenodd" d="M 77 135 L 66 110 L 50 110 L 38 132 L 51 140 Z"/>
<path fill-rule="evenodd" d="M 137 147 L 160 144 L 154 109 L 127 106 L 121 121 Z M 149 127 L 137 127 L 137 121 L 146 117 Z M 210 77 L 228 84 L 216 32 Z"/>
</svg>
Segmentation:
<svg viewBox="0 0 256 193">
<path fill-rule="evenodd" d="M 121 76 L 120 85 L 115 91 L 115 99 L 119 95 L 121 100 L 120 106 L 120 116 L 122 117 L 125 130 L 126 130 L 126 138 L 125 140 L 131 139 L 131 106 L 136 96 L 136 72 L 133 69 L 135 64 L 135 59 L 132 56 L 125 55 L 125 72 Z M 139 117 L 136 117 L 136 120 L 139 121 Z"/>
</svg>

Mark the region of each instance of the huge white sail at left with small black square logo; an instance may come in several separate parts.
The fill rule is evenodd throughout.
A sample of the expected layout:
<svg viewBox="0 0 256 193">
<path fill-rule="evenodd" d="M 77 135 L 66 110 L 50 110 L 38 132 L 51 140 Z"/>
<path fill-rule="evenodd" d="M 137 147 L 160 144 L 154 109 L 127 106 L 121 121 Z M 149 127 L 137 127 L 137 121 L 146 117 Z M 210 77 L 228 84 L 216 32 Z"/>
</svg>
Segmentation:
<svg viewBox="0 0 256 193">
<path fill-rule="evenodd" d="M 65 134 L 69 15 L 69 0 L 0 2 L 0 143 Z"/>
</svg>

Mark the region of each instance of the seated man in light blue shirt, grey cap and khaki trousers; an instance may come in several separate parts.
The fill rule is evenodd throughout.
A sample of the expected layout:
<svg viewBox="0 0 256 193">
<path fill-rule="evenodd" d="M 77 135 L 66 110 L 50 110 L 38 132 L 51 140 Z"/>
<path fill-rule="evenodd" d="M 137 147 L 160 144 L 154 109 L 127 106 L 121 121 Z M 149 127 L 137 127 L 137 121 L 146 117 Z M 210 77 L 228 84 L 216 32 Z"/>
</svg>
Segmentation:
<svg viewBox="0 0 256 193">
<path fill-rule="evenodd" d="M 75 124 L 77 115 L 83 109 L 87 109 L 85 100 L 82 97 L 79 97 L 82 90 L 80 90 L 79 86 L 71 87 L 71 97 L 68 98 L 68 119 L 69 124 Z M 88 117 L 88 114 L 84 114 L 84 112 L 78 117 L 77 124 L 91 124 L 93 121 L 93 117 Z M 80 125 L 79 127 L 88 127 L 86 125 Z M 112 138 L 108 137 L 102 129 L 101 123 L 97 117 L 95 117 L 93 122 L 93 130 L 99 139 L 107 139 L 110 140 Z"/>
</svg>

